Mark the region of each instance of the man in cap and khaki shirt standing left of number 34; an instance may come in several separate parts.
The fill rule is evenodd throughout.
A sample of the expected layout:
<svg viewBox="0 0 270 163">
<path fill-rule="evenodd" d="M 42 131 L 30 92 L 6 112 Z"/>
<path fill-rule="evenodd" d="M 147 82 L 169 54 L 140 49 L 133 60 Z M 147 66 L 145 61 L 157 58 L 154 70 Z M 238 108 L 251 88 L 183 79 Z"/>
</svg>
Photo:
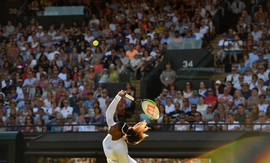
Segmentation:
<svg viewBox="0 0 270 163">
<path fill-rule="evenodd" d="M 175 71 L 171 69 L 171 63 L 166 64 L 166 70 L 160 74 L 160 81 L 163 87 L 168 88 L 170 84 L 175 82 Z"/>
</svg>

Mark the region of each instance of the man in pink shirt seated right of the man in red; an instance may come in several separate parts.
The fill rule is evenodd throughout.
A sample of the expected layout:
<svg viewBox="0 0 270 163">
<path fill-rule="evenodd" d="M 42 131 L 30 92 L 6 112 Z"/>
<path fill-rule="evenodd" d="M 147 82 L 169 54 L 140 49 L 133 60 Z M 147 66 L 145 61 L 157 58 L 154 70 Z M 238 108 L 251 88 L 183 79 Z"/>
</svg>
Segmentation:
<svg viewBox="0 0 270 163">
<path fill-rule="evenodd" d="M 229 94 L 231 91 L 231 88 L 226 86 L 224 88 L 224 94 L 220 94 L 218 96 L 218 103 L 219 105 L 223 104 L 225 106 L 225 109 L 230 110 L 232 107 L 232 103 L 234 101 L 234 98 Z"/>
</svg>

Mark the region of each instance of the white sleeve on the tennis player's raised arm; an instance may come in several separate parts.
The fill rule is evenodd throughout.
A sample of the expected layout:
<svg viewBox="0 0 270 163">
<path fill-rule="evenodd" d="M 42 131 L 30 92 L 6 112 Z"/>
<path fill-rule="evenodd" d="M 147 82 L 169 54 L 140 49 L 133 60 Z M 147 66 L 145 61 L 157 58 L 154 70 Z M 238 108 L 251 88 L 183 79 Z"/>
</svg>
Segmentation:
<svg viewBox="0 0 270 163">
<path fill-rule="evenodd" d="M 119 96 L 118 94 L 115 96 L 115 98 L 113 99 L 112 103 L 110 104 L 110 106 L 108 107 L 107 109 L 107 112 L 106 112 L 106 119 L 107 119 L 107 124 L 110 128 L 111 125 L 114 124 L 114 121 L 113 121 L 113 114 L 116 110 L 116 106 L 117 104 L 119 103 L 119 101 L 122 99 L 121 96 Z"/>
</svg>

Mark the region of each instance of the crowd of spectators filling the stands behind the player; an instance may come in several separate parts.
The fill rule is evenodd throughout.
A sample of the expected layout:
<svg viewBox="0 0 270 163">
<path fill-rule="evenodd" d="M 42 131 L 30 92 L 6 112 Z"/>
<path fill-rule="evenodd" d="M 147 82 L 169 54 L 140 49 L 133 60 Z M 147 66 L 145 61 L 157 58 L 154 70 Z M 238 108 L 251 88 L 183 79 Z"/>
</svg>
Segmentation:
<svg viewBox="0 0 270 163">
<path fill-rule="evenodd" d="M 43 15 L 46 6 L 84 5 L 87 19 L 73 21 L 72 26 L 66 26 L 65 22 L 60 26 L 51 23 L 48 29 L 43 28 L 48 22 L 35 19 L 29 24 L 19 22 L 16 27 L 9 20 L 1 26 L 0 126 L 10 127 L 0 127 L 0 131 L 106 130 L 99 125 L 88 125 L 106 123 L 106 110 L 112 99 L 102 83 L 124 81 L 126 70 L 140 78 L 142 70 L 153 69 L 163 61 L 163 53 L 171 40 L 215 38 L 212 20 L 223 9 L 223 2 L 31 2 L 25 12 L 34 11 L 38 16 Z M 170 63 L 166 64 L 160 76 L 163 90 L 154 100 L 160 107 L 161 117 L 150 121 L 140 114 L 135 117 L 136 122 L 146 120 L 151 130 L 162 131 L 260 130 L 260 125 L 237 123 L 270 123 L 267 119 L 270 118 L 270 1 L 267 1 L 268 8 L 259 5 L 253 20 L 244 10 L 244 2 L 237 3 L 240 5 L 232 3 L 232 13 L 243 16 L 233 24 L 236 30 L 232 28 L 223 34 L 217 56 L 219 63 L 228 54 L 237 62 L 239 50 L 246 50 L 238 70 L 232 67 L 225 85 L 217 80 L 213 88 L 207 89 L 204 82 L 194 87 L 187 82 L 185 90 L 176 90 L 175 71 L 171 70 Z M 226 41 L 247 38 L 251 40 Z M 98 46 L 93 45 L 94 40 L 99 41 Z M 228 45 L 223 47 L 223 43 Z M 224 51 L 231 47 L 234 47 L 232 53 Z M 130 83 L 126 83 L 126 90 L 134 97 Z M 117 105 L 115 121 L 125 121 L 126 110 L 132 110 L 132 101 L 125 98 Z M 53 126 L 31 127 L 32 124 Z M 263 125 L 262 131 L 268 132 L 269 125 Z"/>
</svg>

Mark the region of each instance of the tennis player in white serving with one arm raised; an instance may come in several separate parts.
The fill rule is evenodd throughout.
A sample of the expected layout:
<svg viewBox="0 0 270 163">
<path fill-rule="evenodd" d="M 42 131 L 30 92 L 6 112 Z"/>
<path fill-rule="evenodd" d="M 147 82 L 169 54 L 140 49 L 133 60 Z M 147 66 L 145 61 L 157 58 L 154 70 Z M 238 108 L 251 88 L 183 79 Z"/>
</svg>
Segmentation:
<svg viewBox="0 0 270 163">
<path fill-rule="evenodd" d="M 124 122 L 115 123 L 113 121 L 116 106 L 125 95 L 125 91 L 120 91 L 115 96 L 106 112 L 109 134 L 103 140 L 102 144 L 108 163 L 137 163 L 127 154 L 127 143 L 135 145 L 148 136 L 144 134 L 144 132 L 149 129 L 145 121 L 139 122 L 133 127 L 128 127 Z"/>
</svg>

